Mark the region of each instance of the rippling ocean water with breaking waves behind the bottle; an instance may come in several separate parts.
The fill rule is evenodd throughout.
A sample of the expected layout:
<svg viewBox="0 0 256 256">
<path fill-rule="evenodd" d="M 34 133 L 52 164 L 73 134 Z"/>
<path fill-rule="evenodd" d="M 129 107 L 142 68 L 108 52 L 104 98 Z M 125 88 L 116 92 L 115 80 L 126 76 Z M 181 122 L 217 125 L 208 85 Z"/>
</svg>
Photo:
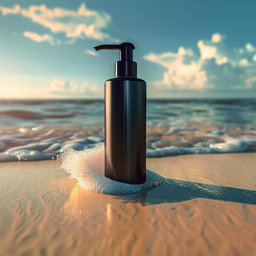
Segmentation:
<svg viewBox="0 0 256 256">
<path fill-rule="evenodd" d="M 103 100 L 0 100 L 0 162 L 56 159 L 103 142 Z M 147 101 L 147 157 L 252 151 L 256 99 Z"/>
</svg>

